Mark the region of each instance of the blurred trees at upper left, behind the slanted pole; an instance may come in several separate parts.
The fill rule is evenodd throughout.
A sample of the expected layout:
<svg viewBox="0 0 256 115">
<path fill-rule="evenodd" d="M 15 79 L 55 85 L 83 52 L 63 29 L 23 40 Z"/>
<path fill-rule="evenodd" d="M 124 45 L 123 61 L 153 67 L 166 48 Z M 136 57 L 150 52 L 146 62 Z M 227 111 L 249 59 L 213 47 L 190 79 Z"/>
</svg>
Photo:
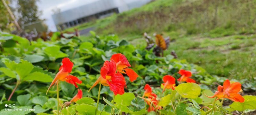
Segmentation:
<svg viewBox="0 0 256 115">
<path fill-rule="evenodd" d="M 39 18 L 42 12 L 38 10 L 38 6 L 36 5 L 37 2 L 40 2 L 39 0 L 5 0 L 5 2 L 12 9 L 13 14 L 21 27 L 23 27 L 24 24 L 42 20 Z M 1 1 L 0 30 L 7 32 L 15 30 L 12 21 L 13 20 L 10 18 L 6 7 Z"/>
</svg>

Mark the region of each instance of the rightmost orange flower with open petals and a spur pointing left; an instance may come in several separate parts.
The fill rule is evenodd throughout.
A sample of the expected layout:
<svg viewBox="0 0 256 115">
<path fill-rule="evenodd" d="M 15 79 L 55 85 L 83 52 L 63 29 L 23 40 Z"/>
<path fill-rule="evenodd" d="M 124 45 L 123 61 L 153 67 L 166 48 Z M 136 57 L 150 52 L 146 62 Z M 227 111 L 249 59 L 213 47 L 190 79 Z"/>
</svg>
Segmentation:
<svg viewBox="0 0 256 115">
<path fill-rule="evenodd" d="M 244 97 L 242 97 L 238 92 L 241 90 L 241 84 L 235 82 L 230 84 L 229 80 L 224 81 L 223 86 L 219 85 L 218 90 L 214 93 L 213 96 L 207 96 L 209 98 L 217 97 L 218 99 L 228 98 L 235 102 L 244 102 Z"/>
</svg>

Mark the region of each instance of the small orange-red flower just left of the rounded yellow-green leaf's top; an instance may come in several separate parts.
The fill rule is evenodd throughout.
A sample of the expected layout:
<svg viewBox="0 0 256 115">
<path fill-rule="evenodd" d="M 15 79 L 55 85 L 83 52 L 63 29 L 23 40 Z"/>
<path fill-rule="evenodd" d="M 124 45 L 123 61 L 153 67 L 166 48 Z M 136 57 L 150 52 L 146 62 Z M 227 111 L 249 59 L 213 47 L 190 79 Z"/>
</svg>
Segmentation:
<svg viewBox="0 0 256 115">
<path fill-rule="evenodd" d="M 164 92 L 165 88 L 174 89 L 174 87 L 175 87 L 175 78 L 174 77 L 172 77 L 171 75 L 165 75 L 163 77 L 163 81 L 164 81 L 164 83 L 162 83 L 164 85 L 163 92 Z"/>
</svg>

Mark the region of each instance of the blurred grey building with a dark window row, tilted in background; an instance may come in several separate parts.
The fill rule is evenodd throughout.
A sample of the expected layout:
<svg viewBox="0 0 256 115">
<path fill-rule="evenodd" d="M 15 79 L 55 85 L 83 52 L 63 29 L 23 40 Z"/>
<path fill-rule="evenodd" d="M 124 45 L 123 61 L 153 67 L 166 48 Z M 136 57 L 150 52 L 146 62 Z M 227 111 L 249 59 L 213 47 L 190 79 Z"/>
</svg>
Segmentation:
<svg viewBox="0 0 256 115">
<path fill-rule="evenodd" d="M 61 29 L 73 27 L 92 19 L 105 18 L 147 4 L 151 0 L 99 0 L 52 15 L 54 24 Z"/>
</svg>

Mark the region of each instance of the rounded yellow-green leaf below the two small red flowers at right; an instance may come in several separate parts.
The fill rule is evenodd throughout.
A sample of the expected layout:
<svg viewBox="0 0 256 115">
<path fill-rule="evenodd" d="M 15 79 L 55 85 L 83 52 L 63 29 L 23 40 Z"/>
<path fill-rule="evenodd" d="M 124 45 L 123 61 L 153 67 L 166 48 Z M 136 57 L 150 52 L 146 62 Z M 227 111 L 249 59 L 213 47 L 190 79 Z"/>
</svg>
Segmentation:
<svg viewBox="0 0 256 115">
<path fill-rule="evenodd" d="M 182 83 L 175 90 L 184 98 L 196 98 L 201 93 L 201 88 L 196 83 Z"/>
</svg>

